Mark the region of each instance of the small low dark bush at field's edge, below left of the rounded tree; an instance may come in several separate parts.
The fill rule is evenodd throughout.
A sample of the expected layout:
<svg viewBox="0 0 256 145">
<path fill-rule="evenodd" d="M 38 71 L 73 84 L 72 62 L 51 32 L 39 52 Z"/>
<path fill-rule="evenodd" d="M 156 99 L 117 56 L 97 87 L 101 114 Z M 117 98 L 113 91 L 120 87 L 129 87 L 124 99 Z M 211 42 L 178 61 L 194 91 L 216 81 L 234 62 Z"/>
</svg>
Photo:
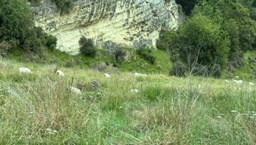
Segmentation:
<svg viewBox="0 0 256 145">
<path fill-rule="evenodd" d="M 175 63 L 169 71 L 170 76 L 184 77 L 188 68 L 181 62 Z"/>
</svg>

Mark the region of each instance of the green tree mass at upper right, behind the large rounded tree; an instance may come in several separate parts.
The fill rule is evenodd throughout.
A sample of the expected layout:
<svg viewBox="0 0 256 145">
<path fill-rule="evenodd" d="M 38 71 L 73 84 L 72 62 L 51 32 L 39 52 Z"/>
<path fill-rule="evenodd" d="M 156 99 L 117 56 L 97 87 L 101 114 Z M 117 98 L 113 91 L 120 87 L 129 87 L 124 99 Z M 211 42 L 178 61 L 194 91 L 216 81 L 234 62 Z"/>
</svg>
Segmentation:
<svg viewBox="0 0 256 145">
<path fill-rule="evenodd" d="M 251 45 L 256 37 L 256 23 L 250 18 L 249 10 L 240 3 L 204 0 L 195 6 L 192 12 L 192 14 L 198 13 L 207 16 L 218 23 L 221 29 L 228 32 L 231 53 L 239 50 L 246 52 L 252 49 Z"/>
</svg>

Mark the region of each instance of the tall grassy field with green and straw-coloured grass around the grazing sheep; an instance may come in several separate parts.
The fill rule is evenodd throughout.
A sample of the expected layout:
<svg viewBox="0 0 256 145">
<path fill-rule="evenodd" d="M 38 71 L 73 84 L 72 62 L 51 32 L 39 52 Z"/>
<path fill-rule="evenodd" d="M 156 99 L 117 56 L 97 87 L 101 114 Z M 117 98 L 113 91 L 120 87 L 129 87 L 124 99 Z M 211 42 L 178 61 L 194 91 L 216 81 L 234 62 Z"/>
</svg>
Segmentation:
<svg viewBox="0 0 256 145">
<path fill-rule="evenodd" d="M 256 144 L 256 90 L 247 81 L 104 73 L 0 60 L 0 144 Z M 72 77 L 81 95 L 70 93 Z"/>
</svg>

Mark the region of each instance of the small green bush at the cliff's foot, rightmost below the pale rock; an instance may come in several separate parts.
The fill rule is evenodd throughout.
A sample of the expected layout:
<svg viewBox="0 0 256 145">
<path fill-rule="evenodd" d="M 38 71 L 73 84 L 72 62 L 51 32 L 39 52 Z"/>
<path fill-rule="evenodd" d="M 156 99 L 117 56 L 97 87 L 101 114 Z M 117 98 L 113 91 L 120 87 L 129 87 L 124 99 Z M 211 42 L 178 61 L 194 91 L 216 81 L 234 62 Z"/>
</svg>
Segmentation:
<svg viewBox="0 0 256 145">
<path fill-rule="evenodd" d="M 148 47 L 146 47 L 146 45 L 141 46 L 138 50 L 137 50 L 138 54 L 143 57 L 145 60 L 148 60 L 150 63 L 154 64 L 156 61 L 156 57 L 154 57 L 151 52 L 152 50 Z"/>
</svg>

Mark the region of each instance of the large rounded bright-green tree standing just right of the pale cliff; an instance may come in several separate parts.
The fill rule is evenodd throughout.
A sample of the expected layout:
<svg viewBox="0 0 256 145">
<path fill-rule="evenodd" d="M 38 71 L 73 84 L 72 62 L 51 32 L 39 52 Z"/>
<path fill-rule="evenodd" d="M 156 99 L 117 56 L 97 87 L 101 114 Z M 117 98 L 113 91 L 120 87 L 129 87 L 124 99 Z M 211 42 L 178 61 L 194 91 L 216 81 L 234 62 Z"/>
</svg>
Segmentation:
<svg viewBox="0 0 256 145">
<path fill-rule="evenodd" d="M 188 61 L 194 61 L 199 52 L 198 63 L 211 65 L 215 62 L 226 67 L 230 40 L 227 33 L 206 16 L 194 15 L 180 26 L 180 35 L 183 43 L 189 46 L 180 48 L 183 53 L 190 55 Z"/>
</svg>

